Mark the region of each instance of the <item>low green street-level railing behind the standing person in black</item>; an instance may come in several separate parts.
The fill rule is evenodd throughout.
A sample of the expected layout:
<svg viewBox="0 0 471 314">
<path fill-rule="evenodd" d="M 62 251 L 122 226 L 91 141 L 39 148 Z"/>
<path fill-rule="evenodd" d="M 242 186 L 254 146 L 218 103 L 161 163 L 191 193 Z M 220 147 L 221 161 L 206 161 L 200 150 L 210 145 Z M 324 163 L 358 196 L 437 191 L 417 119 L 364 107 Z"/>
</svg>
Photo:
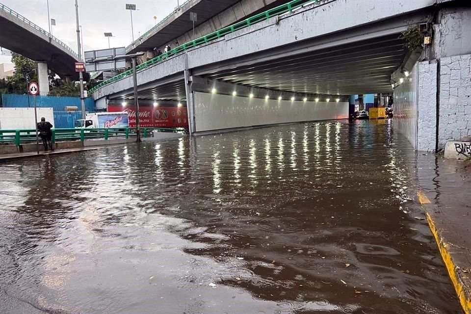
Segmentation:
<svg viewBox="0 0 471 314">
<path fill-rule="evenodd" d="M 185 132 L 184 129 L 141 128 L 141 137 L 151 137 L 152 131 Z M 52 129 L 52 143 L 60 141 L 84 141 L 89 139 L 111 139 L 114 137 L 129 138 L 136 135 L 135 128 L 110 129 Z M 20 146 L 36 141 L 36 130 L 0 130 L 0 145 L 15 144 Z M 39 138 L 41 142 L 41 138 Z"/>
</svg>

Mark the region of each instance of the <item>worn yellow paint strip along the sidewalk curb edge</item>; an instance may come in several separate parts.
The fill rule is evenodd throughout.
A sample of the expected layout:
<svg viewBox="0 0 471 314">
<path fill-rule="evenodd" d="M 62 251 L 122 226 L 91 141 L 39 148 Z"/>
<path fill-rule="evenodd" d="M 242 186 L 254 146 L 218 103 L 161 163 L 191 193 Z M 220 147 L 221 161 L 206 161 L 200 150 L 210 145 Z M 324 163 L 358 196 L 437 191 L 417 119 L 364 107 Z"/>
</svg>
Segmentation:
<svg viewBox="0 0 471 314">
<path fill-rule="evenodd" d="M 422 192 L 418 192 L 417 196 L 419 197 L 419 202 L 422 207 L 423 204 L 430 204 L 430 200 Z M 424 203 L 422 203 L 422 201 Z M 437 227 L 435 226 L 432 217 L 427 211 L 425 211 L 425 216 L 427 217 L 428 226 L 430 227 L 430 231 L 435 237 L 438 249 L 442 255 L 443 262 L 445 263 L 446 269 L 448 270 L 448 275 L 451 279 L 451 282 L 453 283 L 453 287 L 455 288 L 456 294 L 458 295 L 461 306 L 466 314 L 471 314 L 471 296 L 466 293 L 465 286 L 456 272 L 457 267 L 454 264 L 450 253 L 448 252 L 449 245 L 446 244 L 444 239 L 439 235 Z"/>
</svg>

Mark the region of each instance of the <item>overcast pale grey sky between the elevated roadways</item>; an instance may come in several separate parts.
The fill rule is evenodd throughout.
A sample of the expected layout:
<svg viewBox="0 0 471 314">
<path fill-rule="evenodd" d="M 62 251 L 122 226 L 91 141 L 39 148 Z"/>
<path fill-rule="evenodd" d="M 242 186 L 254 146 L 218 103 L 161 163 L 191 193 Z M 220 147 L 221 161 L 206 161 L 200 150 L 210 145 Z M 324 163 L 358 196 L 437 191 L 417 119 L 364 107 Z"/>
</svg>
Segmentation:
<svg viewBox="0 0 471 314">
<path fill-rule="evenodd" d="M 83 30 L 85 51 L 108 48 L 104 32 L 112 32 L 111 47 L 128 46 L 131 43 L 131 16 L 126 3 L 133 3 L 134 39 L 172 12 L 178 0 L 78 0 L 78 18 Z M 180 0 L 183 3 L 185 0 Z M 47 0 L 1 0 L 36 25 L 49 30 Z M 52 34 L 77 51 L 75 0 L 49 0 Z M 10 57 L 0 55 L 0 63 L 10 62 Z"/>
</svg>

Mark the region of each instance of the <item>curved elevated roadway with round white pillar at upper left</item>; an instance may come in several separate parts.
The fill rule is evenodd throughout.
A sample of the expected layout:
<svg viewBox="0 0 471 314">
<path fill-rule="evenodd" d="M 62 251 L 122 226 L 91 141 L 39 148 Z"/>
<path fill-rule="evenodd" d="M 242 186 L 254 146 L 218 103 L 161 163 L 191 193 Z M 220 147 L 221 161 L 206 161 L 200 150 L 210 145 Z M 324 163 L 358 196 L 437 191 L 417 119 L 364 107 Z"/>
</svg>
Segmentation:
<svg viewBox="0 0 471 314">
<path fill-rule="evenodd" d="M 43 28 L 0 3 L 0 46 L 38 61 L 39 80 L 47 81 L 47 69 L 60 77 L 78 78 L 78 54 Z M 46 78 L 45 78 L 46 76 Z M 44 83 L 41 85 L 45 85 Z M 48 85 L 49 86 L 49 85 Z"/>
</svg>

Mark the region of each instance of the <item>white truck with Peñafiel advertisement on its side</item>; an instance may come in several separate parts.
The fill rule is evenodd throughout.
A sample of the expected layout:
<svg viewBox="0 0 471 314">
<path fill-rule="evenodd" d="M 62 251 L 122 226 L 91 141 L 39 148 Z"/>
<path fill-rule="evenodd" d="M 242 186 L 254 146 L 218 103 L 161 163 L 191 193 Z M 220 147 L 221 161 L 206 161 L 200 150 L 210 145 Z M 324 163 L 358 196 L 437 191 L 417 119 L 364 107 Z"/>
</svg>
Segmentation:
<svg viewBox="0 0 471 314">
<path fill-rule="evenodd" d="M 85 119 L 75 121 L 76 129 L 129 128 L 128 112 L 87 113 Z"/>
</svg>

